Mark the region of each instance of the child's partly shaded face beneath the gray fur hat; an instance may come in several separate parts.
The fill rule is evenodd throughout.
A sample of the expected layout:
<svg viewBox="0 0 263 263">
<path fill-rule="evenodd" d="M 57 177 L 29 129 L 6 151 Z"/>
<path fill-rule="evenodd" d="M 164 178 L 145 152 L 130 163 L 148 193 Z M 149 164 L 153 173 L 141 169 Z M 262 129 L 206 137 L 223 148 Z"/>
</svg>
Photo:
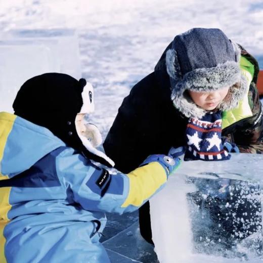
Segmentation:
<svg viewBox="0 0 263 263">
<path fill-rule="evenodd" d="M 196 105 L 204 110 L 214 110 L 227 96 L 229 87 L 211 92 L 193 92 L 189 94 Z"/>
</svg>

